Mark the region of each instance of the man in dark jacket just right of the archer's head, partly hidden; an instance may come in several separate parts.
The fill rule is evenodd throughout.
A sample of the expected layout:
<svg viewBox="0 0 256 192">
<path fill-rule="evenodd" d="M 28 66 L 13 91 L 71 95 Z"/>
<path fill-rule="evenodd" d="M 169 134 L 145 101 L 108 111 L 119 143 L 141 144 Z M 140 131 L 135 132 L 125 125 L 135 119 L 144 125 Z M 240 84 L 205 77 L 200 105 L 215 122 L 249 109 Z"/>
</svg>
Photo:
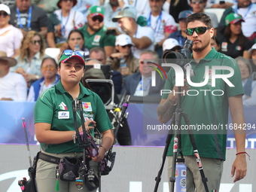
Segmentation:
<svg viewBox="0 0 256 192">
<path fill-rule="evenodd" d="M 91 59 L 97 59 L 99 62 L 102 63 L 102 65 L 106 65 L 107 63 L 107 56 L 105 51 L 101 47 L 94 47 L 90 50 L 90 56 Z M 122 75 L 120 72 L 113 71 L 112 78 L 114 84 L 114 93 L 120 94 L 120 91 L 122 89 Z"/>
</svg>

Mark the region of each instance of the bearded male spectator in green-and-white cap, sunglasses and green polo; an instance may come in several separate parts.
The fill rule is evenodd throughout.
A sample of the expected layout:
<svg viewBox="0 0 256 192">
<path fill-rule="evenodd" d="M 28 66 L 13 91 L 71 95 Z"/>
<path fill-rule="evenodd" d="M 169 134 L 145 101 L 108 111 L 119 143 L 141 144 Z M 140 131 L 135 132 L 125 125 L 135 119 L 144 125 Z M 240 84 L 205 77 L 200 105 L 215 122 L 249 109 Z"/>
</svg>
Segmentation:
<svg viewBox="0 0 256 192">
<path fill-rule="evenodd" d="M 93 6 L 87 11 L 87 25 L 81 27 L 79 30 L 84 34 L 84 46 L 87 49 L 93 47 L 102 47 L 107 56 L 114 53 L 114 35 L 106 35 L 103 29 L 104 23 L 104 10 L 99 6 Z M 68 44 L 62 44 L 61 50 L 66 50 Z"/>
</svg>

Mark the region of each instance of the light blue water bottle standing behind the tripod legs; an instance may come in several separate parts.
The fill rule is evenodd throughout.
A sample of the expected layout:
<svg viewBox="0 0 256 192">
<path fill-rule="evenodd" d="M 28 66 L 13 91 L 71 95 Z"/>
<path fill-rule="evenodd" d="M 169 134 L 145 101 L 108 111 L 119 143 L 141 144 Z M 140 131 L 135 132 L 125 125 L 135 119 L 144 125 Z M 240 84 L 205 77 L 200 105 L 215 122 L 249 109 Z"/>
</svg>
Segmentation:
<svg viewBox="0 0 256 192">
<path fill-rule="evenodd" d="M 177 158 L 175 170 L 175 192 L 186 191 L 187 167 L 184 164 L 184 158 Z"/>
</svg>

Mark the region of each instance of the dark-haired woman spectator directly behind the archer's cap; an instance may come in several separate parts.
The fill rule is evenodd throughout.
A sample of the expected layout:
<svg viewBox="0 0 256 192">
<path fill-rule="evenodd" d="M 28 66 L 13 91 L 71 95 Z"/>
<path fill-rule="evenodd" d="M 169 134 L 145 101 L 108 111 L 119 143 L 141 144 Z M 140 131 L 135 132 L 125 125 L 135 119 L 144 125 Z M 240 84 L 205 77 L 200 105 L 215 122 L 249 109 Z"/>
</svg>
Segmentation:
<svg viewBox="0 0 256 192">
<path fill-rule="evenodd" d="M 78 29 L 73 29 L 69 32 L 68 37 L 69 50 L 83 50 L 85 57 L 89 57 L 89 50 L 84 47 L 84 35 Z"/>
</svg>

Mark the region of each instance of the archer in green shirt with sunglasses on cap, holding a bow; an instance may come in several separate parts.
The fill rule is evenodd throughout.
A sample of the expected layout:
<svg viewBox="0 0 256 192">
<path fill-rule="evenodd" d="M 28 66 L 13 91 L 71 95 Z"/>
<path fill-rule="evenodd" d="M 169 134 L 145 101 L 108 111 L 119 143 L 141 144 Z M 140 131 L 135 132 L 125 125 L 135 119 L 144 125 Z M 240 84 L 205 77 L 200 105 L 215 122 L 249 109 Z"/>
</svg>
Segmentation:
<svg viewBox="0 0 256 192">
<path fill-rule="evenodd" d="M 105 152 L 111 148 L 114 142 L 111 131 L 113 126 L 102 100 L 96 93 L 87 88 L 88 85 L 84 87 L 80 82 L 84 76 L 84 59 L 84 52 L 81 50 L 63 50 L 59 59 L 59 82 L 45 90 L 35 103 L 35 136 L 40 142 L 41 153 L 50 156 L 48 160 L 41 158 L 41 156 L 38 159 L 36 183 L 40 192 L 54 191 L 56 187 L 61 192 L 96 192 L 97 190 L 87 188 L 85 185 L 87 175 L 80 175 L 79 179 L 84 182 L 82 189 L 75 181 L 62 181 L 60 178 L 57 180 L 57 163 L 49 160 L 56 157 L 79 158 L 84 156 L 84 148 L 78 147 L 78 139 L 75 135 L 72 109 L 72 102 L 75 99 L 81 100 L 84 105 L 84 115 L 81 117 L 79 112 L 75 114 L 78 121 L 78 131 L 82 132 L 81 118 L 84 118 L 87 132 L 93 135 L 96 131 L 94 129 L 97 128 L 99 133 L 103 135 L 99 154 L 95 157 L 86 156 L 84 160 L 87 168 L 93 169 L 95 177 L 98 175 L 98 163 L 104 158 Z"/>
</svg>

